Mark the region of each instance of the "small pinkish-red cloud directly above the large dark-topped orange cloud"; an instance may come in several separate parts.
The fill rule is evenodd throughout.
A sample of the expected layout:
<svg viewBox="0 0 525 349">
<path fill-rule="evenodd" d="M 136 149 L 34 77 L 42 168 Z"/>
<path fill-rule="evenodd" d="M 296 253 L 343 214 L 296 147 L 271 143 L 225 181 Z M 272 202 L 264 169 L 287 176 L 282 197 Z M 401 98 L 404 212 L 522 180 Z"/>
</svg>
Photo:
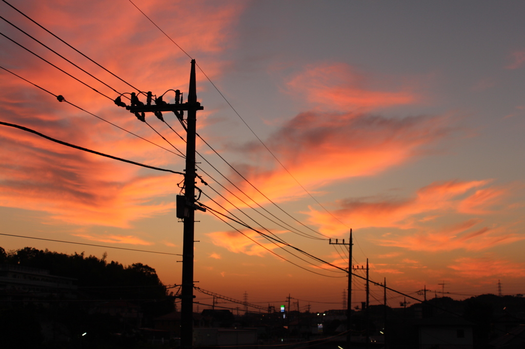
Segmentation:
<svg viewBox="0 0 525 349">
<path fill-rule="evenodd" d="M 323 109 L 349 111 L 356 108 L 385 107 L 412 104 L 416 95 L 407 87 L 401 91 L 374 91 L 367 89 L 369 81 L 348 64 L 320 64 L 307 67 L 293 77 L 288 89 L 306 97 Z"/>
</svg>

